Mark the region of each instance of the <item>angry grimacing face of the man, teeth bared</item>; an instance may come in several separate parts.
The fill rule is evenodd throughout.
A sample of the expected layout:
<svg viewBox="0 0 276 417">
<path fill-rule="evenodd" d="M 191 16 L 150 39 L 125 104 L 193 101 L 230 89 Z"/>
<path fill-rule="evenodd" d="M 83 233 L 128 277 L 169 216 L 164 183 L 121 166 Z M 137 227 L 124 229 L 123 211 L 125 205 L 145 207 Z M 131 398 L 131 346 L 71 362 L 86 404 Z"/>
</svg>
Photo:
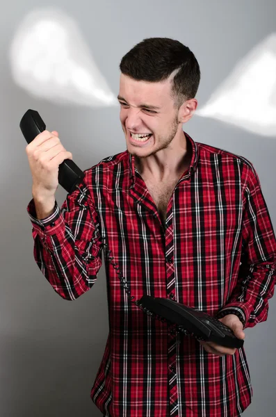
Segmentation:
<svg viewBox="0 0 276 417">
<path fill-rule="evenodd" d="M 170 89 L 169 80 L 152 83 L 136 81 L 121 74 L 118 95 L 120 121 L 130 154 L 140 158 L 155 154 L 168 147 L 176 134 L 182 131 Z M 147 138 L 136 136 L 147 133 L 150 134 Z"/>
</svg>

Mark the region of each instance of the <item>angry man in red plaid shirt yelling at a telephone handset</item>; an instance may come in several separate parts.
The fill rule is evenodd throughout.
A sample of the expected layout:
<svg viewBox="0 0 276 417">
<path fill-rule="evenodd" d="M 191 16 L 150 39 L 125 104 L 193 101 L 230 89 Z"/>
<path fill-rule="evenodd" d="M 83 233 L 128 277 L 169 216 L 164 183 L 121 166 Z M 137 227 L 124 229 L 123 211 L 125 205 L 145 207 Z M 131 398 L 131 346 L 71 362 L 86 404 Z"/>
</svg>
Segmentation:
<svg viewBox="0 0 276 417">
<path fill-rule="evenodd" d="M 240 416 L 252 398 L 243 347 L 179 334 L 135 302 L 169 297 L 220 318 L 238 338 L 266 320 L 276 242 L 259 178 L 247 159 L 182 130 L 200 82 L 188 47 L 146 39 L 120 70 L 127 150 L 86 170 L 62 208 L 58 165 L 72 154 L 56 131 L 26 147 L 35 261 L 74 300 L 95 284 L 104 247 L 109 334 L 91 391 L 104 416 Z"/>
</svg>

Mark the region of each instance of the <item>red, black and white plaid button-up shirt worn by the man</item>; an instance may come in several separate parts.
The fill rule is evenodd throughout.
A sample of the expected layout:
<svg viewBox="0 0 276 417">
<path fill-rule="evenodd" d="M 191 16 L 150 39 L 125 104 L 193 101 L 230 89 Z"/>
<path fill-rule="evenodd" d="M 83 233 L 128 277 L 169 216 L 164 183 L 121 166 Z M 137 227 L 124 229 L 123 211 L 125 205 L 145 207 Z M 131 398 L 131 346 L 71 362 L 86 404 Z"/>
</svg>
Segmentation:
<svg viewBox="0 0 276 417">
<path fill-rule="evenodd" d="M 91 391 L 104 416 L 234 417 L 251 402 L 243 347 L 209 354 L 129 298 L 171 297 L 217 317 L 234 312 L 244 327 L 267 318 L 276 243 L 259 177 L 242 156 L 186 138 L 193 158 L 165 228 L 127 151 L 86 170 L 47 219 L 35 218 L 33 199 L 27 208 L 35 261 L 66 300 L 95 284 L 104 252 L 109 334 Z"/>
</svg>

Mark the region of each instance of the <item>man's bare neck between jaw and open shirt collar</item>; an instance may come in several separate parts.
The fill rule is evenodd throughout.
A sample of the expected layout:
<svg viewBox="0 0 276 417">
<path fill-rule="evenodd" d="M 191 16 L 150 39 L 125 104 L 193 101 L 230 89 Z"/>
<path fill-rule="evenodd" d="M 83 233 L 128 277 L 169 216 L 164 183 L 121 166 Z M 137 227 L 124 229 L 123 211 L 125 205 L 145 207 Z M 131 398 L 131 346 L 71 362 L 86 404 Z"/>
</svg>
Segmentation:
<svg viewBox="0 0 276 417">
<path fill-rule="evenodd" d="M 138 172 L 143 177 L 150 177 L 156 181 L 181 177 L 190 166 L 193 148 L 183 131 L 181 138 L 173 142 L 174 140 L 172 140 L 169 147 L 161 149 L 156 154 L 146 158 L 135 156 L 134 161 Z"/>
</svg>

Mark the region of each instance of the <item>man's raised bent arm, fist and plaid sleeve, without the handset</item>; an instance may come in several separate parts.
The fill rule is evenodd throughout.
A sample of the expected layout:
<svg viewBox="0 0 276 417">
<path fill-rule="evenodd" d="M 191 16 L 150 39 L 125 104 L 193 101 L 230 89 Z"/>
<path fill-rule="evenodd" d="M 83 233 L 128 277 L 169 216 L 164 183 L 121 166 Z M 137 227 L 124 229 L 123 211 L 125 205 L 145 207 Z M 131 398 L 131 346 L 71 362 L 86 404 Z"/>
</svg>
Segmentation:
<svg viewBox="0 0 276 417">
<path fill-rule="evenodd" d="M 95 284 L 102 245 L 86 177 L 58 207 L 54 197 L 58 166 L 72 154 L 55 133 L 44 131 L 26 147 L 33 175 L 33 199 L 27 211 L 33 224 L 35 262 L 60 297 L 75 300 Z"/>
</svg>

